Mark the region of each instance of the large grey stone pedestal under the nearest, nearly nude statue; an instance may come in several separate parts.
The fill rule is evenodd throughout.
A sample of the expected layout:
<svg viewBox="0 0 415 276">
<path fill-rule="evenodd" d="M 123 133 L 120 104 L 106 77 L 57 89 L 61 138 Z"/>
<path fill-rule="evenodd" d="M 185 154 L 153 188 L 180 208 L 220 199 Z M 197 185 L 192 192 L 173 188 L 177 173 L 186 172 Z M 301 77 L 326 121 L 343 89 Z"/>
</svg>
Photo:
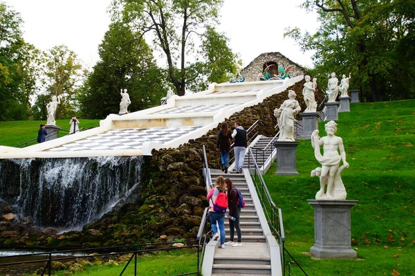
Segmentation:
<svg viewBox="0 0 415 276">
<path fill-rule="evenodd" d="M 321 259 L 353 259 L 350 210 L 358 201 L 317 201 L 308 199 L 314 208 L 314 246 L 311 254 Z"/>
</svg>

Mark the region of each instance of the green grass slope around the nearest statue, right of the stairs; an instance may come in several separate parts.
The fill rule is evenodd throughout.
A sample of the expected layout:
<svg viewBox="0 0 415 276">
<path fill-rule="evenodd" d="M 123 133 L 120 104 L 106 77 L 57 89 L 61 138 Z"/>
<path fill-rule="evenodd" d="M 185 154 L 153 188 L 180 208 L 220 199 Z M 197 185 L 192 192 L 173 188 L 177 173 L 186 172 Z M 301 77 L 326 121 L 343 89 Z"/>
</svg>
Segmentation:
<svg viewBox="0 0 415 276">
<path fill-rule="evenodd" d="M 342 137 L 349 169 L 342 172 L 351 209 L 352 247 L 359 259 L 313 260 L 314 199 L 320 167 L 310 140 L 297 147 L 299 176 L 264 176 L 274 202 L 282 208 L 286 248 L 308 275 L 415 275 L 415 100 L 351 104 L 340 113 L 337 136 Z M 320 122 L 320 136 L 326 136 Z M 298 268 L 293 268 L 300 275 Z"/>
</svg>

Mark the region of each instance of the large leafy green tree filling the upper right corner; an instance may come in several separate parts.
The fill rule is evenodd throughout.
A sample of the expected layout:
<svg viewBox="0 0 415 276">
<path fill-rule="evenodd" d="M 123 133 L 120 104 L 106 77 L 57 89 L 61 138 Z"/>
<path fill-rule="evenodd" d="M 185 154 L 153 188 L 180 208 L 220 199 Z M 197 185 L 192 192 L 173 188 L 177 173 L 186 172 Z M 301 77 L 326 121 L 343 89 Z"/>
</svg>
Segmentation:
<svg viewBox="0 0 415 276">
<path fill-rule="evenodd" d="M 414 48 L 405 49 L 405 55 L 397 52 L 399 45 L 408 45 L 405 41 L 413 37 L 412 2 L 306 0 L 304 8 L 317 9 L 320 29 L 314 35 L 301 35 L 294 28 L 286 35 L 296 39 L 303 50 L 316 51 L 315 72 L 351 72 L 351 86 L 360 88 L 366 98 L 414 98 L 413 63 L 409 70 L 403 67 L 409 65 L 405 55 L 412 56 Z M 408 93 L 402 93 L 404 87 Z"/>
</svg>

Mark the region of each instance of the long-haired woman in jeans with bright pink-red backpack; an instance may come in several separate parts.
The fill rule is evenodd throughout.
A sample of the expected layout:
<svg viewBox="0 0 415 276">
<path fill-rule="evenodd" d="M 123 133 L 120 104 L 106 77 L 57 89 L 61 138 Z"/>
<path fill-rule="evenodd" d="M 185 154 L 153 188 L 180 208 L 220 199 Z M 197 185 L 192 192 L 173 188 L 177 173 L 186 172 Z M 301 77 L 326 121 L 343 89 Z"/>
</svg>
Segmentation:
<svg viewBox="0 0 415 276">
<path fill-rule="evenodd" d="M 209 206 L 210 206 L 209 208 L 210 227 L 212 227 L 213 239 L 215 241 L 219 239 L 218 227 L 216 226 L 216 223 L 218 223 L 219 232 L 221 233 L 220 234 L 221 246 L 219 246 L 219 248 L 225 248 L 225 212 L 226 212 L 226 207 L 228 206 L 224 207 L 224 210 L 218 210 L 220 208 L 217 208 L 217 205 L 220 204 L 218 202 L 219 199 L 223 201 L 223 196 L 226 197 L 225 193 L 226 193 L 225 178 L 223 178 L 223 176 L 218 176 L 218 178 L 216 178 L 215 187 L 212 190 L 210 190 L 208 192 L 208 196 L 206 196 L 206 198 L 209 201 Z M 228 205 L 228 202 L 226 202 L 226 205 Z"/>
</svg>

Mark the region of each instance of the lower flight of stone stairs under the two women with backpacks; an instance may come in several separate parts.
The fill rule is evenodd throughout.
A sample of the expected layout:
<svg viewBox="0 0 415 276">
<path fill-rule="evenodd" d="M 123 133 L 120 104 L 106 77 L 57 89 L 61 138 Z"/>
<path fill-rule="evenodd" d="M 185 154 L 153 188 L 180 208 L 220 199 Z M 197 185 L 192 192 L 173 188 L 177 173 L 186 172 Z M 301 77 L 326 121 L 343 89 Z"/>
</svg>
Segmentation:
<svg viewBox="0 0 415 276">
<path fill-rule="evenodd" d="M 241 208 L 240 226 L 242 232 L 242 246 L 226 246 L 225 249 L 216 248 L 212 265 L 212 276 L 248 276 L 271 275 L 271 259 L 266 237 L 261 228 L 257 210 L 252 203 L 244 174 L 223 174 L 212 172 L 212 183 L 216 177 L 230 178 L 234 187 L 239 189 L 245 200 L 246 207 Z M 259 208 L 261 208 L 259 206 Z M 229 241 L 229 221 L 225 219 L 225 241 Z M 235 231 L 234 239 L 237 239 Z"/>
</svg>

